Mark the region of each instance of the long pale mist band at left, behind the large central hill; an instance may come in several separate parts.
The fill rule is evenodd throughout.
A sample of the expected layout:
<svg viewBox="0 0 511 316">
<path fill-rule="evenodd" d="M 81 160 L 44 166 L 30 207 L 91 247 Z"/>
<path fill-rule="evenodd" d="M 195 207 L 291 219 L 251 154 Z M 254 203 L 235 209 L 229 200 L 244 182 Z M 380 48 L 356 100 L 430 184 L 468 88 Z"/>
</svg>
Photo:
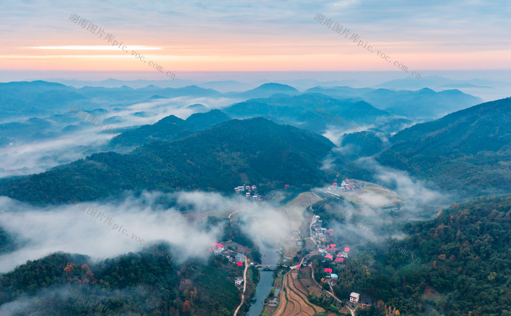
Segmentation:
<svg viewBox="0 0 511 316">
<path fill-rule="evenodd" d="M 214 109 L 232 102 L 233 99 L 223 97 L 182 96 L 157 99 L 131 104 L 120 109 L 109 109 L 107 113 L 99 116 L 99 120 L 117 117 L 118 120 L 111 123 L 113 130 L 117 131 L 130 126 L 154 124 L 169 115 L 186 119 L 196 112 L 187 108 L 190 104 L 201 103 L 206 108 Z M 145 116 L 134 115 L 140 112 L 144 112 Z M 102 133 L 104 128 L 100 130 L 101 125 L 85 122 L 73 114 L 66 115 L 71 118 L 71 123 L 55 123 L 57 127 L 53 132 L 59 133 L 59 128 L 66 125 L 78 125 L 79 128 L 73 131 L 68 130 L 65 135 L 55 138 L 36 140 L 21 146 L 0 147 L 0 177 L 40 173 L 58 165 L 82 159 L 92 153 L 111 150 L 104 146 L 111 140 L 112 134 Z M 69 119 L 64 121 L 69 122 Z"/>
</svg>

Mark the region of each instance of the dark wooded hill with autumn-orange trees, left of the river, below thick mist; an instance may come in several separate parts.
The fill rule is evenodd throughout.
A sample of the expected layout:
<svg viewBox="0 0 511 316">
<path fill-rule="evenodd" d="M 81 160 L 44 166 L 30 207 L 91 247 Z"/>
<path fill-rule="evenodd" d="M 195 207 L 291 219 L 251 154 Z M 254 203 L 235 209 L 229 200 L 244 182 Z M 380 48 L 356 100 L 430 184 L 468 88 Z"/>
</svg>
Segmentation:
<svg viewBox="0 0 511 316">
<path fill-rule="evenodd" d="M 224 256 L 208 264 L 176 266 L 167 259 L 172 255 L 161 250 L 162 255 L 130 252 L 98 264 L 91 264 L 88 256 L 62 252 L 29 260 L 0 277 L 0 305 L 6 304 L 9 315 L 234 313 L 240 301 L 234 279 L 243 275 L 244 267 Z"/>
</svg>

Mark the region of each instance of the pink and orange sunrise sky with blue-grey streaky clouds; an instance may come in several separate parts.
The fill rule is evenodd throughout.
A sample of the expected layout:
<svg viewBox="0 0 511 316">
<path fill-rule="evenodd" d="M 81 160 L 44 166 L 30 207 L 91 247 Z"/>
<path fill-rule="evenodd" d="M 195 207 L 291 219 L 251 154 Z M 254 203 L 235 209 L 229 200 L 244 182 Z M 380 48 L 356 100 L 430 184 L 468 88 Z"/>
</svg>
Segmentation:
<svg viewBox="0 0 511 316">
<path fill-rule="evenodd" d="M 410 75 L 511 69 L 508 1 L 0 4 L 0 72 L 86 71 L 104 78 L 109 71 L 144 72 L 167 79 L 193 71 L 401 72 L 399 64 Z M 350 34 L 335 32 L 335 23 Z"/>
</svg>

